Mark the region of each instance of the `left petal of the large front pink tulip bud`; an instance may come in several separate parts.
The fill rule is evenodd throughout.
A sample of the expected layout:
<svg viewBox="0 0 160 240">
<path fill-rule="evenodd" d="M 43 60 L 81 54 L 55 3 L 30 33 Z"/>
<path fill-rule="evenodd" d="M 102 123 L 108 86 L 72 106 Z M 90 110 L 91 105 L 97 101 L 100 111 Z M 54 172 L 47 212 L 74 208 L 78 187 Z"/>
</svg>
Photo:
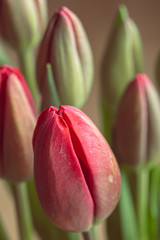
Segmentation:
<svg viewBox="0 0 160 240">
<path fill-rule="evenodd" d="M 93 222 L 93 200 L 68 126 L 54 110 L 41 118 L 36 133 L 36 189 L 46 214 L 57 226 L 82 231 Z"/>
</svg>

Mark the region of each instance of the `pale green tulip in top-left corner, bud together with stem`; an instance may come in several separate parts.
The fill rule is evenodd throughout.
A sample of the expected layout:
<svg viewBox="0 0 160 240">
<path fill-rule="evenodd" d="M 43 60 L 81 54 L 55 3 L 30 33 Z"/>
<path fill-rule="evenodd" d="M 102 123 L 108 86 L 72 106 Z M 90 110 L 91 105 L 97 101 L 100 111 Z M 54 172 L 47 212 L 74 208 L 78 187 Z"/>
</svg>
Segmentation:
<svg viewBox="0 0 160 240">
<path fill-rule="evenodd" d="M 1 0 L 0 36 L 13 47 L 28 86 L 39 107 L 35 77 L 35 49 L 48 21 L 46 0 Z"/>
</svg>

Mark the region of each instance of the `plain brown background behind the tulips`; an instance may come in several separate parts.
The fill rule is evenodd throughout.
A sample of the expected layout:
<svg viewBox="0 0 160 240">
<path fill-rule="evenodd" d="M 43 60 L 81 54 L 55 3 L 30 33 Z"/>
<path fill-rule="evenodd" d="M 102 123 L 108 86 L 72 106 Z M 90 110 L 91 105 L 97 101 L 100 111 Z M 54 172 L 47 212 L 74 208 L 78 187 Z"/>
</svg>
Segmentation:
<svg viewBox="0 0 160 240">
<path fill-rule="evenodd" d="M 99 69 L 104 48 L 109 36 L 109 30 L 113 22 L 117 6 L 120 1 L 107 0 L 48 0 L 49 16 L 61 6 L 67 6 L 74 11 L 86 29 L 94 56 L 95 78 L 92 93 L 84 106 L 84 111 L 92 118 L 96 125 L 100 126 L 99 113 Z M 154 80 L 155 61 L 160 50 L 160 1 L 159 0 L 135 0 L 124 1 L 128 7 L 130 16 L 137 23 L 142 35 L 146 73 Z M 13 202 L 0 181 L 0 214 L 3 216 L 12 240 L 17 240 L 17 226 Z M 35 237 L 36 239 L 36 237 Z M 46 239 L 47 240 L 47 239 Z"/>
</svg>

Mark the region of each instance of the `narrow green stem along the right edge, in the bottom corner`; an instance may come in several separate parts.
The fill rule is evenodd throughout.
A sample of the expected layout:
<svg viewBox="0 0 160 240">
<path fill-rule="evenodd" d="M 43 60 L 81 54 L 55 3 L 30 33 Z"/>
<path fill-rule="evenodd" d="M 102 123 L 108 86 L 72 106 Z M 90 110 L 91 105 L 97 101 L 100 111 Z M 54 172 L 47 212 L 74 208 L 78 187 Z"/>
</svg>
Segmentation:
<svg viewBox="0 0 160 240">
<path fill-rule="evenodd" d="M 150 183 L 150 238 L 157 239 L 158 235 L 158 194 L 159 194 L 159 179 L 160 169 L 156 167 L 151 172 L 151 183 Z"/>
</svg>

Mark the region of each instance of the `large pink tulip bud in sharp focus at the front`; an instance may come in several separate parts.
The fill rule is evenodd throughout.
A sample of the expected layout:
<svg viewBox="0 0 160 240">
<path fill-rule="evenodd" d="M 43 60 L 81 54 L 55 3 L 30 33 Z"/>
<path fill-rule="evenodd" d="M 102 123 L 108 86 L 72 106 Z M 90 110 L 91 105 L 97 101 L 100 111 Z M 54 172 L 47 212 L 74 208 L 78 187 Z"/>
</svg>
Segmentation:
<svg viewBox="0 0 160 240">
<path fill-rule="evenodd" d="M 33 137 L 34 177 L 46 215 L 79 232 L 108 217 L 120 194 L 120 171 L 94 123 L 71 106 L 45 109 Z"/>
</svg>

